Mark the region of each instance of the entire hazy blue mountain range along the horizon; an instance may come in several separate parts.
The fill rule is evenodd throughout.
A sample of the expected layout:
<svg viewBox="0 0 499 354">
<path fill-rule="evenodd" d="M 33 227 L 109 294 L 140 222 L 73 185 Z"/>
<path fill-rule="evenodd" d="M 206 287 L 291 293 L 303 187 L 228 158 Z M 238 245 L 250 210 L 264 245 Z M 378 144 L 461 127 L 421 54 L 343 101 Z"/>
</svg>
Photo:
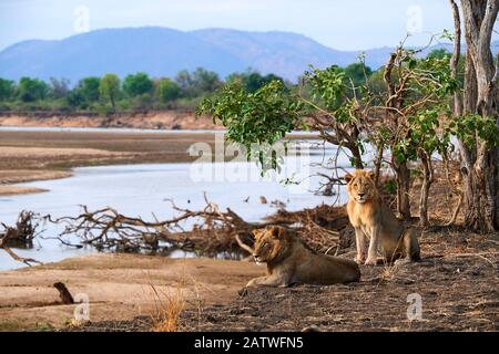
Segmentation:
<svg viewBox="0 0 499 354">
<path fill-rule="evenodd" d="M 381 66 L 390 48 L 365 51 L 373 69 Z M 166 28 L 96 30 L 60 41 L 31 40 L 0 52 L 0 77 L 67 77 L 74 84 L 84 76 L 112 72 L 124 76 L 144 71 L 174 76 L 198 66 L 222 77 L 248 67 L 296 81 L 314 64 L 348 65 L 359 52 L 337 51 L 289 32 L 244 32 L 206 29 L 183 32 Z"/>
</svg>

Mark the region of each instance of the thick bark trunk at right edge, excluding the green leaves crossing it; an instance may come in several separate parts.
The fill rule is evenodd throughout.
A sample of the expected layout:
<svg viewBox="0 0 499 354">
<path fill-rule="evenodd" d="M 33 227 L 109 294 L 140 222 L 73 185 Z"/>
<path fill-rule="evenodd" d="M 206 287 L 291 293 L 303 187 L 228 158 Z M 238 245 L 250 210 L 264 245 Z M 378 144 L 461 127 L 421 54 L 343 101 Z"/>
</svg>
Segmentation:
<svg viewBox="0 0 499 354">
<path fill-rule="evenodd" d="M 460 23 L 459 9 L 450 0 L 455 17 L 456 35 Z M 497 0 L 461 0 L 465 37 L 467 44 L 462 114 L 479 114 L 496 117 L 499 126 L 497 80 L 499 66 L 495 69 L 490 51 L 491 33 L 499 3 Z M 455 41 L 456 60 L 459 41 Z M 458 59 L 457 59 L 458 60 Z M 455 63 L 454 63 L 455 64 Z M 452 62 L 451 62 L 452 65 Z M 458 101 L 455 100 L 455 103 Z M 459 106 L 455 107 L 459 116 Z M 465 226 L 477 231 L 499 230 L 499 147 L 489 147 L 479 136 L 472 146 L 459 142 L 464 183 Z"/>
</svg>

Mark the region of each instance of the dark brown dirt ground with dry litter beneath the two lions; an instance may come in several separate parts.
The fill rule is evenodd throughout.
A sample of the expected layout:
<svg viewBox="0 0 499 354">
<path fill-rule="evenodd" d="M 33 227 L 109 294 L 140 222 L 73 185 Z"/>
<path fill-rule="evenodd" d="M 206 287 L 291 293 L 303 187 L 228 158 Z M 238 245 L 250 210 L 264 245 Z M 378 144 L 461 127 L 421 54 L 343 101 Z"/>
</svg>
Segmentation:
<svg viewBox="0 0 499 354">
<path fill-rule="evenodd" d="M 361 266 L 358 283 L 240 289 L 230 302 L 187 308 L 181 313 L 179 330 L 498 331 L 499 235 L 446 229 L 425 232 L 420 243 L 420 262 L 395 268 Z M 344 254 L 353 256 L 353 250 Z M 407 313 L 414 313 L 409 306 L 417 296 L 421 320 L 410 321 Z M 65 330 L 150 329 L 151 322 L 139 317 Z"/>
</svg>

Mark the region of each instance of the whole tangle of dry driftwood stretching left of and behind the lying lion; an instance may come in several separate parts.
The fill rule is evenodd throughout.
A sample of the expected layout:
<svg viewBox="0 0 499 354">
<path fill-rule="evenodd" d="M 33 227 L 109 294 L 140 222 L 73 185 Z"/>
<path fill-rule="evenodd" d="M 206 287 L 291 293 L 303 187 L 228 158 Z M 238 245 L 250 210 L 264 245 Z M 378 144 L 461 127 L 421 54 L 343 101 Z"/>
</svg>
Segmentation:
<svg viewBox="0 0 499 354">
<path fill-rule="evenodd" d="M 91 211 L 82 207 L 83 212 L 77 217 L 62 217 L 45 220 L 63 225 L 64 230 L 58 239 L 72 247 L 93 246 L 99 250 L 142 252 L 149 251 L 169 254 L 173 250 L 195 251 L 203 256 L 224 256 L 238 258 L 241 242 L 253 244 L 253 230 L 269 225 L 294 228 L 315 249 L 336 252 L 347 244 L 339 240 L 348 225 L 343 208 L 320 206 L 288 212 L 279 209 L 263 222 L 247 222 L 236 212 L 218 206 L 204 197 L 206 206 L 202 210 L 179 208 L 172 200 L 171 206 L 177 216 L 169 220 L 146 221 L 121 215 L 113 208 Z M 190 221 L 192 228 L 185 230 L 182 223 Z M 343 230 L 340 232 L 340 230 Z M 68 237 L 78 237 L 78 242 L 68 241 Z M 248 248 L 244 248 L 248 251 Z"/>
</svg>

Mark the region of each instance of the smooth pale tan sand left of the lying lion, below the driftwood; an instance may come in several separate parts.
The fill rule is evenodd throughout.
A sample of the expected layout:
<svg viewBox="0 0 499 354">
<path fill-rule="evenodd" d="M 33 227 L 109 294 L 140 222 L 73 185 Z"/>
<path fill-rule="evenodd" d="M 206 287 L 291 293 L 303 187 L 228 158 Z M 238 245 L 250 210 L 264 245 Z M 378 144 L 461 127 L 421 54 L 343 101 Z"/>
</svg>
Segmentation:
<svg viewBox="0 0 499 354">
<path fill-rule="evenodd" d="M 75 296 L 86 294 L 90 319 L 150 319 L 163 294 L 180 290 L 186 308 L 230 303 L 262 268 L 249 262 L 170 259 L 139 254 L 92 254 L 0 274 L 0 331 L 52 330 L 73 319 L 75 305 L 62 304 L 53 283 Z M 159 292 L 156 296 L 153 291 Z"/>
</svg>

